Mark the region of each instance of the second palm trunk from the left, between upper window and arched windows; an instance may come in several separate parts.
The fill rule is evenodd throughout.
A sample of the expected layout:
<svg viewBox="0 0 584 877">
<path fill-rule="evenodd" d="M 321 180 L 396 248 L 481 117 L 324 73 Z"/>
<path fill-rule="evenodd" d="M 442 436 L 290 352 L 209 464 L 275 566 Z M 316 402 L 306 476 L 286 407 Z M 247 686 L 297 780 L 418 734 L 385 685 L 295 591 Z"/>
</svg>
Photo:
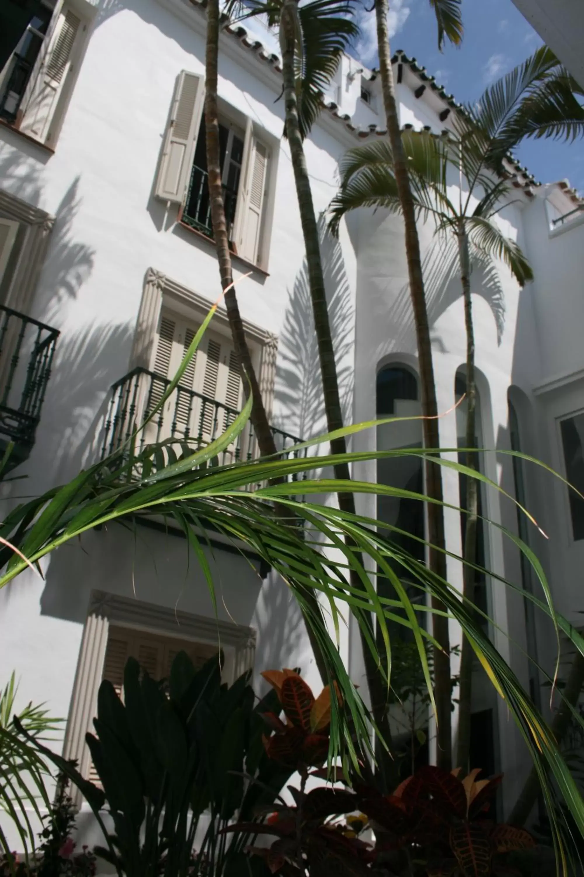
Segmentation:
<svg viewBox="0 0 584 877">
<path fill-rule="evenodd" d="M 285 129 L 290 144 L 292 157 L 292 169 L 296 194 L 298 196 L 300 222 L 306 248 L 306 265 L 308 268 L 308 283 L 310 296 L 313 304 L 314 330 L 316 332 L 319 349 L 320 373 L 327 415 L 328 431 L 339 430 L 343 426 L 341 396 L 339 394 L 339 381 L 337 378 L 336 362 L 334 360 L 334 347 L 331 335 L 330 322 L 328 319 L 327 295 L 325 291 L 324 276 L 322 273 L 322 261 L 320 259 L 319 232 L 314 215 L 313 193 L 310 188 L 310 178 L 306 168 L 304 146 L 299 129 L 298 101 L 296 96 L 296 78 L 294 71 L 294 51 L 296 44 L 296 16 L 297 0 L 284 0 L 280 18 L 280 42 L 282 46 L 282 67 L 284 75 L 285 96 Z M 331 441 L 331 452 L 335 454 L 346 453 L 347 444 L 344 438 Z M 338 463 L 334 467 L 334 477 L 343 481 L 350 479 L 348 463 Z M 338 495 L 339 507 L 343 511 L 355 514 L 355 498 L 352 493 Z M 362 582 L 358 575 L 351 572 L 351 583 L 362 588 Z M 369 631 L 373 637 L 373 625 L 369 621 Z M 387 686 L 383 681 L 383 675 L 379 672 L 376 658 L 369 649 L 367 638 L 361 631 L 363 658 L 365 672 L 371 698 L 371 712 L 376 723 L 377 730 L 385 743 L 391 748 L 391 729 L 387 710 Z M 387 788 L 395 788 L 398 780 L 396 764 L 391 755 L 382 747 L 377 751 L 377 766 L 382 774 Z"/>
</svg>

